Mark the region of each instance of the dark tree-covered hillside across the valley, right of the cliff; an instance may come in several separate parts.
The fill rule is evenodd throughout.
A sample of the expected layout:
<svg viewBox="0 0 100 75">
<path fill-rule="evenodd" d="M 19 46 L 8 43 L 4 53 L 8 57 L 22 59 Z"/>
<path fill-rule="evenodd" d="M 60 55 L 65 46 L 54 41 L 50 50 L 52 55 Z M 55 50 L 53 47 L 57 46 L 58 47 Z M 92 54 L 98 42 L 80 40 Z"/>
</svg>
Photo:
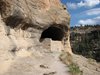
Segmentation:
<svg viewBox="0 0 100 75">
<path fill-rule="evenodd" d="M 70 40 L 75 54 L 100 62 L 100 25 L 71 27 Z"/>
</svg>

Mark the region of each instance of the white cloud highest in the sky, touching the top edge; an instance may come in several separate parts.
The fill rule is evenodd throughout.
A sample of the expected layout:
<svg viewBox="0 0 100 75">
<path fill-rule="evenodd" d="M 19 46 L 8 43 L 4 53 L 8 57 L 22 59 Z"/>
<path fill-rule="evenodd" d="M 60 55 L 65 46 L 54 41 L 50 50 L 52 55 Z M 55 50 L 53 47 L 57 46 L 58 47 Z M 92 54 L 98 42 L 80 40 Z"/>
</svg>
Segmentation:
<svg viewBox="0 0 100 75">
<path fill-rule="evenodd" d="M 98 4 L 100 4 L 100 0 L 83 0 L 79 3 L 67 3 L 67 6 L 70 9 L 76 9 L 80 7 L 94 7 Z"/>
</svg>

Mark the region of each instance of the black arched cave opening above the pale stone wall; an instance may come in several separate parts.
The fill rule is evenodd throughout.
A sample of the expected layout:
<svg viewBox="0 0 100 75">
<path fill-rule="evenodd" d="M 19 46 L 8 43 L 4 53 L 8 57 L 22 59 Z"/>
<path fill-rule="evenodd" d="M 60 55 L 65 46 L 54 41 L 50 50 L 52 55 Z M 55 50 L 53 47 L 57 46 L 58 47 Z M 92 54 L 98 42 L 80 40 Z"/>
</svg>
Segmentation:
<svg viewBox="0 0 100 75">
<path fill-rule="evenodd" d="M 45 38 L 51 38 L 53 41 L 62 41 L 63 37 L 63 29 L 59 27 L 49 27 L 42 32 L 40 42 L 42 42 Z"/>
</svg>

